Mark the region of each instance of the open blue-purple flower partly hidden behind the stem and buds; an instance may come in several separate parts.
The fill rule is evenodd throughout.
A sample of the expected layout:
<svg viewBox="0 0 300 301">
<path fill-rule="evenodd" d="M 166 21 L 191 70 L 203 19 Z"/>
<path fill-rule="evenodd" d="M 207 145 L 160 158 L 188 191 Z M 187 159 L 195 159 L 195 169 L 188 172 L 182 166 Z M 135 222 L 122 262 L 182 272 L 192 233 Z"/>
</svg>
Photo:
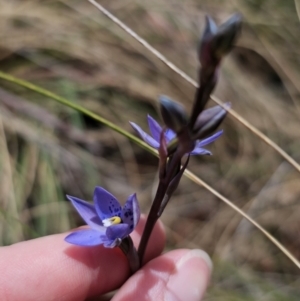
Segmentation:
<svg viewBox="0 0 300 301">
<path fill-rule="evenodd" d="M 151 132 L 151 136 L 144 132 L 140 126 L 135 124 L 134 122 L 130 122 L 131 126 L 136 130 L 136 132 L 140 135 L 140 137 L 150 146 L 155 149 L 159 148 L 160 145 L 160 135 L 162 132 L 162 127 L 158 124 L 158 122 L 153 119 L 150 115 L 148 115 L 148 125 Z M 218 139 L 223 133 L 223 130 L 218 131 L 212 136 L 203 139 L 197 140 L 194 149 L 190 152 L 190 155 L 211 155 L 211 152 L 207 149 L 203 148 L 203 146 L 212 143 L 216 139 Z M 170 129 L 165 131 L 165 139 L 167 144 L 176 137 L 176 133 Z"/>
</svg>

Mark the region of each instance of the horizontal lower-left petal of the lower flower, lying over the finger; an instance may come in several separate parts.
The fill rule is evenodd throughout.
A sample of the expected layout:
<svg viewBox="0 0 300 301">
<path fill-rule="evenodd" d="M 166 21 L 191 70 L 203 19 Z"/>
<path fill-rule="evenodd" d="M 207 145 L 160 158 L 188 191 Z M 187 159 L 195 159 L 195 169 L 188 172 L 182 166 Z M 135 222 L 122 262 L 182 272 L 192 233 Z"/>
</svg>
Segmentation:
<svg viewBox="0 0 300 301">
<path fill-rule="evenodd" d="M 106 228 L 103 227 L 103 231 L 94 230 L 94 229 L 86 229 L 86 230 L 78 230 L 71 234 L 69 234 L 65 241 L 78 246 L 98 246 L 102 245 L 104 241 L 107 240 L 105 235 Z"/>
</svg>

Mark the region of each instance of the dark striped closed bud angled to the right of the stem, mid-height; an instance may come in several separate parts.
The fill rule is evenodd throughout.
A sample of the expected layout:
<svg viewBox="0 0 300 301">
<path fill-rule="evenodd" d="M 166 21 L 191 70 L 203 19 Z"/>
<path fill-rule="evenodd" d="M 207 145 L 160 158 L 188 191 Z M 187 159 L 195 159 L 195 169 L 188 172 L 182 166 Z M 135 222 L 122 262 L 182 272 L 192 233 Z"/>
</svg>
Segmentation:
<svg viewBox="0 0 300 301">
<path fill-rule="evenodd" d="M 215 131 L 226 117 L 227 109 L 230 107 L 230 103 L 225 103 L 225 109 L 221 106 L 215 106 L 204 110 L 195 122 L 193 139 L 202 139 Z"/>
</svg>

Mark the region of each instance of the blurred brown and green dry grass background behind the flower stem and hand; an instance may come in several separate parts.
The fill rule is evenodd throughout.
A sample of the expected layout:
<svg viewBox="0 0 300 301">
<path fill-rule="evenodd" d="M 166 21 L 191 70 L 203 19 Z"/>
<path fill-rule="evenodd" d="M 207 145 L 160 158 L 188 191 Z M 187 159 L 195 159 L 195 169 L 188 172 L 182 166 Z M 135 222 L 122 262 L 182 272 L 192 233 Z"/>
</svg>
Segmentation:
<svg viewBox="0 0 300 301">
<path fill-rule="evenodd" d="M 196 78 L 205 14 L 244 16 L 238 46 L 215 91 L 300 160 L 298 0 L 99 1 Z M 131 132 L 159 118 L 157 95 L 191 107 L 194 89 L 87 1 L 0 2 L 0 69 L 64 96 Z M 213 103 L 211 103 L 213 104 Z M 228 117 L 213 157 L 189 168 L 243 208 L 300 259 L 299 174 Z M 0 243 L 67 231 L 81 219 L 65 199 L 91 200 L 96 185 L 121 201 L 138 193 L 147 212 L 157 159 L 101 124 L 0 82 Z M 163 221 L 167 248 L 203 248 L 215 263 L 205 300 L 299 300 L 299 271 L 265 237 L 183 179 Z"/>
</svg>

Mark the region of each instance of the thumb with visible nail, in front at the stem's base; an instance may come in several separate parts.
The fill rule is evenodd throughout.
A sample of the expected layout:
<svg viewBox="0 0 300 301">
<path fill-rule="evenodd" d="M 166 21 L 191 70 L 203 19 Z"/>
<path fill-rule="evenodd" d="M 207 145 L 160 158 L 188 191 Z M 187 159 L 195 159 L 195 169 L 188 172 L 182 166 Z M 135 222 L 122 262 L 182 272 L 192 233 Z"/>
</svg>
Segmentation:
<svg viewBox="0 0 300 301">
<path fill-rule="evenodd" d="M 129 278 L 113 301 L 199 301 L 212 263 L 201 250 L 175 250 L 148 262 Z"/>
</svg>

